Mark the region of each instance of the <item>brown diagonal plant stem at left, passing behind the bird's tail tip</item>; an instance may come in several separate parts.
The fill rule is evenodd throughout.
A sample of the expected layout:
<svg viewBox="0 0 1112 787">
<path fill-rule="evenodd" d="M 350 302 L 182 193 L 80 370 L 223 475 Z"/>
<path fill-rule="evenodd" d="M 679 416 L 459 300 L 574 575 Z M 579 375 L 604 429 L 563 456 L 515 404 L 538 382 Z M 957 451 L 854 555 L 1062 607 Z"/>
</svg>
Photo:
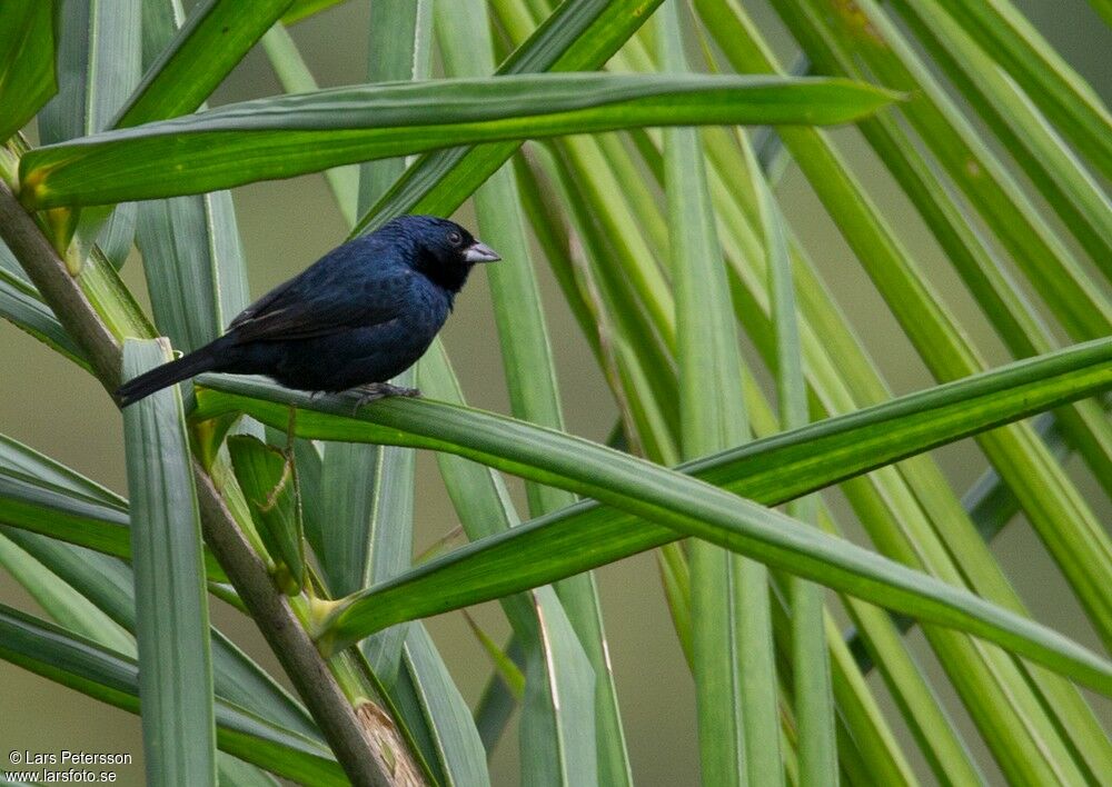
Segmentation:
<svg viewBox="0 0 1112 787">
<path fill-rule="evenodd" d="M 101 385 L 109 392 L 113 391 L 120 376 L 119 342 L 69 275 L 50 241 L 2 181 L 0 237 L 62 326 L 85 350 Z M 275 587 L 266 566 L 239 531 L 212 479 L 196 461 L 193 472 L 206 542 L 305 700 L 348 778 L 355 785 L 375 787 L 421 784 L 421 770 L 408 749 L 384 745 L 398 737 L 393 723 L 381 714 L 356 714 L 289 601 Z"/>
</svg>

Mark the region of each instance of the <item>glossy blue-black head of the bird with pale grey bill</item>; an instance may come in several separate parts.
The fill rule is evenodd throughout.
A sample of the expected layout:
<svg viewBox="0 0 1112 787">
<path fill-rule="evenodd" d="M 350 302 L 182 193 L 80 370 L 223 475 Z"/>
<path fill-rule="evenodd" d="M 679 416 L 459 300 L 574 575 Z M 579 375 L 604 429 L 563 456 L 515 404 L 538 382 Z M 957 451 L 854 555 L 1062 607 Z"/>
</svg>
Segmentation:
<svg viewBox="0 0 1112 787">
<path fill-rule="evenodd" d="M 436 216 L 400 216 L 391 223 L 415 246 L 414 268 L 451 293 L 459 292 L 476 262 L 502 259 L 486 243 Z"/>
</svg>

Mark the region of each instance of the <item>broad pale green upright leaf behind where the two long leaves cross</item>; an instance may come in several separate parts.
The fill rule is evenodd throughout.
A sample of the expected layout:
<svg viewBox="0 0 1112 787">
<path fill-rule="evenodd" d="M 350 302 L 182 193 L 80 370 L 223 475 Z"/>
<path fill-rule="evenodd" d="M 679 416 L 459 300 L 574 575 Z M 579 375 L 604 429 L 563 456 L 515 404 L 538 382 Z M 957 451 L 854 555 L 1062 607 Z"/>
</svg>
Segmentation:
<svg viewBox="0 0 1112 787">
<path fill-rule="evenodd" d="M 681 10 L 658 12 L 661 62 L 688 70 Z M 668 239 L 675 290 L 679 438 L 683 458 L 748 439 L 742 359 L 698 132 L 664 136 Z M 703 540 L 691 545 L 692 668 L 699 773 L 715 785 L 776 785 L 783 768 L 768 569 Z"/>
</svg>

